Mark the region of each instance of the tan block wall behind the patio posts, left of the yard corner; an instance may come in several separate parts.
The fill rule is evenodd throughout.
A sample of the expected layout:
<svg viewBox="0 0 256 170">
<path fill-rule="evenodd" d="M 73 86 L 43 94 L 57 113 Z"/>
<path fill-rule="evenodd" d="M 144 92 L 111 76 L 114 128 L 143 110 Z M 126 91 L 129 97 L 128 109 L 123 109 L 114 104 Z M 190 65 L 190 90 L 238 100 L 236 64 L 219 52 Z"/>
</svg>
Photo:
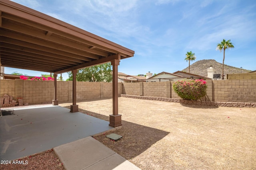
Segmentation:
<svg viewBox="0 0 256 170">
<path fill-rule="evenodd" d="M 54 99 L 53 81 L 1 80 L 0 97 L 4 94 L 16 100 L 22 97 L 23 103 L 46 104 Z M 72 81 L 57 81 L 57 99 L 60 103 L 72 102 Z M 122 83 L 118 83 L 118 95 L 122 94 Z M 112 83 L 76 82 L 76 100 L 100 100 L 112 98 Z"/>
</svg>

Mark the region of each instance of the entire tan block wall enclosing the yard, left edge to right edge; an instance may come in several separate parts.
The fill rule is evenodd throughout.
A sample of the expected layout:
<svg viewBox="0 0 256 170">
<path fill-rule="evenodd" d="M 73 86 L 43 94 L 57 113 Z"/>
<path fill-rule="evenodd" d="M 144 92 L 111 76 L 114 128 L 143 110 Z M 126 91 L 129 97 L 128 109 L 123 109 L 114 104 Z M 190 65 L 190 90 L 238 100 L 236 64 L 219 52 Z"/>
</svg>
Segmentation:
<svg viewBox="0 0 256 170">
<path fill-rule="evenodd" d="M 256 103 L 256 73 L 228 75 L 228 80 L 206 80 L 206 102 L 244 102 Z M 180 99 L 168 82 L 118 83 L 118 95 Z M 23 98 L 24 103 L 52 103 L 54 97 L 53 81 L 0 80 L 0 97 L 4 94 Z M 77 82 L 77 101 L 112 98 L 112 83 Z M 72 102 L 72 81 L 57 81 L 57 99 L 60 103 Z"/>
</svg>

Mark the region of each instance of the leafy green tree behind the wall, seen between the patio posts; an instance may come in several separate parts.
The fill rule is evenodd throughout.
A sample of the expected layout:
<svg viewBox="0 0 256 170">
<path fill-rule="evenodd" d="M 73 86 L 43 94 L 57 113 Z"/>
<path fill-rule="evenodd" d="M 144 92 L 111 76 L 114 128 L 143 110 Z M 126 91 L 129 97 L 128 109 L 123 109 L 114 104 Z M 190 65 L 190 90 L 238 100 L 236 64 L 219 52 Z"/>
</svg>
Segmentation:
<svg viewBox="0 0 256 170">
<path fill-rule="evenodd" d="M 111 82 L 111 63 L 100 64 L 77 71 L 76 81 L 82 82 Z M 68 72 L 68 80 L 73 80 L 72 72 Z"/>
</svg>

